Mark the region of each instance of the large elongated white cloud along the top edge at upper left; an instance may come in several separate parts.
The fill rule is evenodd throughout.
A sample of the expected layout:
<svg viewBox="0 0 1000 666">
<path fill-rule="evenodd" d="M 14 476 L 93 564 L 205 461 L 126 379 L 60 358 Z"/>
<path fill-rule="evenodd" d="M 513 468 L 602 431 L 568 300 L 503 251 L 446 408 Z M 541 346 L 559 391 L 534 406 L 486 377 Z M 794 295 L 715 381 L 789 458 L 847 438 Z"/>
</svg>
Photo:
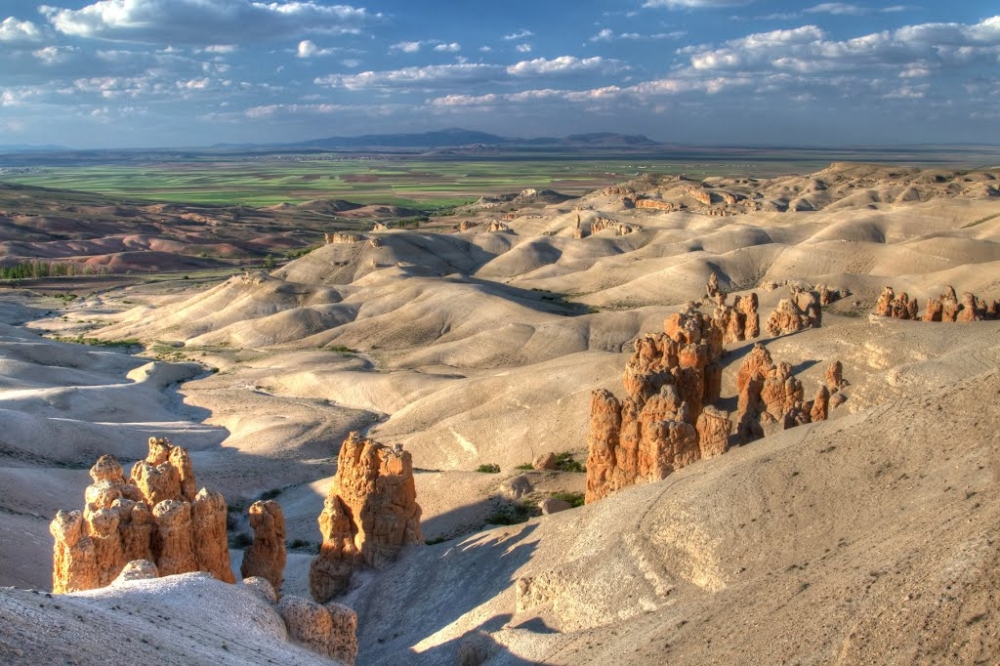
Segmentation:
<svg viewBox="0 0 1000 666">
<path fill-rule="evenodd" d="M 42 5 L 39 11 L 66 35 L 176 44 L 211 44 L 219 35 L 248 42 L 303 33 L 357 33 L 381 16 L 313 0 L 99 0 L 82 9 Z"/>
</svg>

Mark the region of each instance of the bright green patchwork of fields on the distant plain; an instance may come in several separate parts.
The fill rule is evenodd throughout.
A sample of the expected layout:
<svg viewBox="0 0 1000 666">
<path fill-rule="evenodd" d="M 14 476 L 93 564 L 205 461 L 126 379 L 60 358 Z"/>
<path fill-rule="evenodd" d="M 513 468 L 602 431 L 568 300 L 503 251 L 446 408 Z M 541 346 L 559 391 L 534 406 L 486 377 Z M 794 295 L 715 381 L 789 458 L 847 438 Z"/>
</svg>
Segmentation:
<svg viewBox="0 0 1000 666">
<path fill-rule="evenodd" d="M 127 201 L 272 206 L 346 199 L 423 210 L 533 187 L 580 195 L 651 171 L 691 176 L 750 173 L 761 165 L 643 160 L 421 161 L 277 158 L 143 165 L 42 167 L 0 175 L 10 183 L 93 192 Z M 786 165 L 787 168 L 793 165 Z M 797 162 L 809 171 L 821 162 Z M 770 165 L 773 169 L 773 165 Z"/>
</svg>

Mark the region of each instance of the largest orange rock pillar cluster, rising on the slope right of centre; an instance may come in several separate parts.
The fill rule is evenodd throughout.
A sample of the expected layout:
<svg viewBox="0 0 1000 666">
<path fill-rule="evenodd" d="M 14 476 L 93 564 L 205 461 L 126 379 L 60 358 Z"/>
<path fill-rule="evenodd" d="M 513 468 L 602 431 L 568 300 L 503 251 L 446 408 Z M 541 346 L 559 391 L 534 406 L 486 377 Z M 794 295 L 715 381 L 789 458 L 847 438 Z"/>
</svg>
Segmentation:
<svg viewBox="0 0 1000 666">
<path fill-rule="evenodd" d="M 594 391 L 588 503 L 725 452 L 729 415 L 705 409 L 719 399 L 723 337 L 712 318 L 689 304 L 667 318 L 663 333 L 636 340 L 622 377 L 623 400 L 603 389 Z"/>
</svg>

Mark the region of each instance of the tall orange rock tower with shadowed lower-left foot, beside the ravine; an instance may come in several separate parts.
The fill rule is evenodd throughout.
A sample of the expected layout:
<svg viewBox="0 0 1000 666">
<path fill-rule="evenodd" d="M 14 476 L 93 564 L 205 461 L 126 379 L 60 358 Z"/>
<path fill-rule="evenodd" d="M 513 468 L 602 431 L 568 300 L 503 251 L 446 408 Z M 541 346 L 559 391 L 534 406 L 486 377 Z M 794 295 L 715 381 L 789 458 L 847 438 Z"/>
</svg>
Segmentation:
<svg viewBox="0 0 1000 666">
<path fill-rule="evenodd" d="M 351 433 L 319 516 L 323 542 L 309 570 L 313 598 L 330 600 L 347 589 L 355 569 L 384 566 L 404 545 L 422 542 L 416 499 L 409 452 Z"/>
</svg>

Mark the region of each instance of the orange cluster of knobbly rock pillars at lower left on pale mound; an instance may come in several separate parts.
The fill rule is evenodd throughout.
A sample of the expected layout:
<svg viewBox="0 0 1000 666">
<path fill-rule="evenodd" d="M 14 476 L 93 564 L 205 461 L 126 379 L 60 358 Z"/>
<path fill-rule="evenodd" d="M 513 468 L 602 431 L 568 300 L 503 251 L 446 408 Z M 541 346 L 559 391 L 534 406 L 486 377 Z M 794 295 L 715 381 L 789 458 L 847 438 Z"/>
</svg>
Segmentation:
<svg viewBox="0 0 1000 666">
<path fill-rule="evenodd" d="M 186 450 L 151 438 L 149 455 L 130 478 L 112 456 L 101 456 L 90 477 L 83 511 L 60 511 L 49 527 L 53 592 L 110 585 L 133 560 L 154 563 L 161 576 L 206 571 L 234 581 L 226 502 L 204 488 L 195 492 Z"/>
</svg>

